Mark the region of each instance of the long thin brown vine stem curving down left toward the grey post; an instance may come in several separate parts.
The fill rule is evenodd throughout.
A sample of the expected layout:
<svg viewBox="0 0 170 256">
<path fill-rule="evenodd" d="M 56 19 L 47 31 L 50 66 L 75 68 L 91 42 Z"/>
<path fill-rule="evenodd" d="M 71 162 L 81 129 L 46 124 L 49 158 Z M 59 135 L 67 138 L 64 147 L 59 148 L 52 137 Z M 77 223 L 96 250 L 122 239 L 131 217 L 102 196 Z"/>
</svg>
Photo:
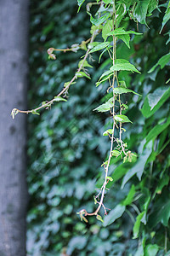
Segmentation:
<svg viewBox="0 0 170 256">
<path fill-rule="evenodd" d="M 92 38 L 90 39 L 90 43 L 93 43 L 93 42 L 94 42 L 94 38 L 96 37 L 97 33 L 98 33 L 98 29 L 94 31 L 94 33 L 93 33 L 93 35 L 92 35 Z M 84 55 L 82 64 L 81 64 L 81 66 L 78 68 L 77 73 L 79 73 L 79 72 L 82 70 L 83 64 L 84 64 L 84 62 L 86 61 L 86 59 L 88 58 L 89 51 L 90 51 L 90 49 L 88 49 L 87 52 L 86 52 L 86 55 Z M 69 87 L 71 86 L 71 84 L 72 84 L 76 79 L 77 79 L 77 75 L 75 74 L 74 77 L 71 79 L 70 83 L 67 84 L 67 85 L 65 86 L 65 88 L 64 88 L 63 90 L 61 90 L 57 96 L 61 96 L 66 90 L 68 90 Z M 32 112 L 37 112 L 37 110 L 40 110 L 40 109 L 42 109 L 42 108 L 46 108 L 46 107 L 48 107 L 49 105 L 53 104 L 53 102 L 55 102 L 55 97 L 54 97 L 51 101 L 46 102 L 45 104 L 43 104 L 42 106 L 40 106 L 40 107 L 38 107 L 38 108 L 34 108 L 34 109 L 31 109 L 31 110 L 20 110 L 20 109 L 18 109 L 18 108 L 14 108 L 14 109 L 12 110 L 12 113 L 13 113 L 14 111 L 15 111 L 16 113 L 32 113 Z"/>
</svg>

